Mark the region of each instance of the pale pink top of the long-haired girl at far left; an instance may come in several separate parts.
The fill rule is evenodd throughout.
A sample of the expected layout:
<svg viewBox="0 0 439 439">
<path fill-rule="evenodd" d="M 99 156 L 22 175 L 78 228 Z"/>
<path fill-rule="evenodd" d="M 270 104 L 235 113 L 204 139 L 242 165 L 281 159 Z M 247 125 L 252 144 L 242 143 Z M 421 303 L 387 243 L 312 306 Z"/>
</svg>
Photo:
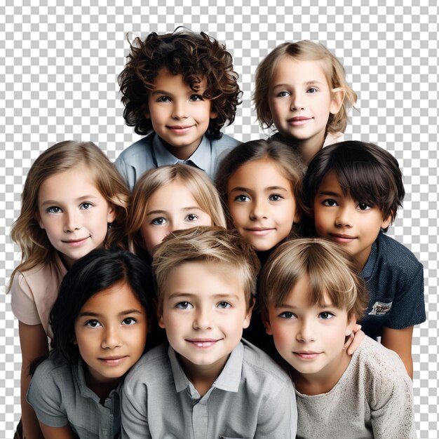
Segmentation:
<svg viewBox="0 0 439 439">
<path fill-rule="evenodd" d="M 49 313 L 65 273 L 67 269 L 57 254 L 53 263 L 18 272 L 11 285 L 11 308 L 15 317 L 26 325 L 43 325 L 50 338 L 53 334 Z"/>
</svg>

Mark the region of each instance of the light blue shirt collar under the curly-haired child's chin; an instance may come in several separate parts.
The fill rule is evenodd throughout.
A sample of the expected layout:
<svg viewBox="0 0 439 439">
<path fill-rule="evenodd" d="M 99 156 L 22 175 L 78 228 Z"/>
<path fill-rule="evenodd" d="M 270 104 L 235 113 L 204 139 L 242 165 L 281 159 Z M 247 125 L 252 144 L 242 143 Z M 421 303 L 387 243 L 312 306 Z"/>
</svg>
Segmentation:
<svg viewBox="0 0 439 439">
<path fill-rule="evenodd" d="M 212 155 L 212 151 L 210 150 L 210 142 L 204 135 L 198 148 L 194 151 L 194 154 L 192 154 L 187 160 L 180 160 L 180 158 L 171 154 L 168 149 L 166 149 L 163 141 L 158 135 L 154 135 L 151 151 L 156 166 L 185 163 L 204 171 L 208 171 L 210 168 L 210 156 Z"/>
</svg>

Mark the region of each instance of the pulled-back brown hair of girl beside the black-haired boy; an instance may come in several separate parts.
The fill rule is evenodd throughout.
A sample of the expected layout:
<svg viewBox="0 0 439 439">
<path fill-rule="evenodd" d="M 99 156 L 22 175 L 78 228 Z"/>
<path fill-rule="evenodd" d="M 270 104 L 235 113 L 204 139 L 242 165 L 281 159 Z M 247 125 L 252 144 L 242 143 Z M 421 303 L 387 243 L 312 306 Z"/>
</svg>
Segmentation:
<svg viewBox="0 0 439 439">
<path fill-rule="evenodd" d="M 215 180 L 224 212 L 226 212 L 227 227 L 229 229 L 233 229 L 234 225 L 227 207 L 227 184 L 236 170 L 245 163 L 263 160 L 264 158 L 269 158 L 276 163 L 283 177 L 290 180 L 293 194 L 299 200 L 299 194 L 302 192 L 304 169 L 300 158 L 290 147 L 272 139 L 251 140 L 250 142 L 238 144 L 219 163 Z M 299 209 L 299 203 L 297 203 L 297 209 Z"/>
</svg>

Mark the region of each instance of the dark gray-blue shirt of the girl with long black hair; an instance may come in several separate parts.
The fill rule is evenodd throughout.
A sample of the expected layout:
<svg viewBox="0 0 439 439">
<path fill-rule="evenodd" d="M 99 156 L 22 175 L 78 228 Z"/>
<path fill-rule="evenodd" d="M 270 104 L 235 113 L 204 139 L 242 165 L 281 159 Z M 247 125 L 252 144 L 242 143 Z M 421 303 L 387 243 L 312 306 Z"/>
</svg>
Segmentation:
<svg viewBox="0 0 439 439">
<path fill-rule="evenodd" d="M 80 438 L 119 438 L 120 387 L 119 384 L 102 405 L 88 389 L 81 363 L 70 365 L 51 356 L 36 368 L 26 398 L 38 420 L 47 426 L 70 424 Z"/>
</svg>

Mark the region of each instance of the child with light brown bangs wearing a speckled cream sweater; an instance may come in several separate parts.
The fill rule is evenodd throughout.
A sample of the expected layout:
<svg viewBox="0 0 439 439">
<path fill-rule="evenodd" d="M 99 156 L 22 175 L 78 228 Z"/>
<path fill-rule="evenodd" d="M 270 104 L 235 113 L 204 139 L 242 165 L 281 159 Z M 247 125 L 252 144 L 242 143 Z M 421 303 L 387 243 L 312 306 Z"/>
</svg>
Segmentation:
<svg viewBox="0 0 439 439">
<path fill-rule="evenodd" d="M 288 363 L 297 438 L 415 438 L 412 381 L 400 358 L 369 337 L 344 349 L 367 307 L 356 262 L 322 238 L 283 243 L 262 269 L 266 332 Z"/>
</svg>

